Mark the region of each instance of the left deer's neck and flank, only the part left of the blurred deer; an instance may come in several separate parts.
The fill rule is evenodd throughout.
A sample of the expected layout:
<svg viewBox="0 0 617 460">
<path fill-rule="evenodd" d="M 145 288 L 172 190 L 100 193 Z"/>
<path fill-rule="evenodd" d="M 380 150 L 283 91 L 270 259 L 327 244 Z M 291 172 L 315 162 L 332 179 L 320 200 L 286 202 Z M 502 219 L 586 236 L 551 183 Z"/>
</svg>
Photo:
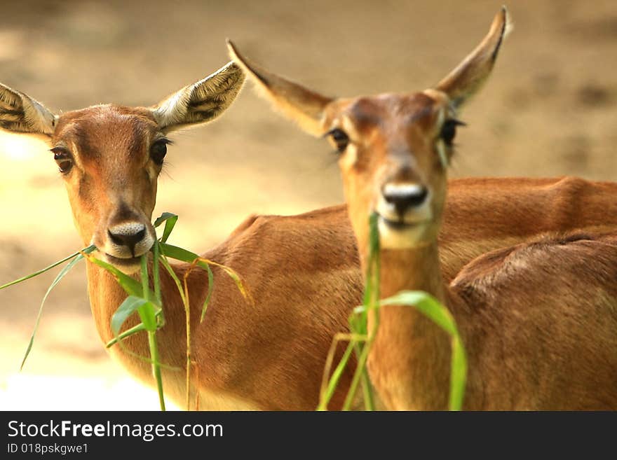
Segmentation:
<svg viewBox="0 0 617 460">
<path fill-rule="evenodd" d="M 334 208 L 289 218 L 248 218 L 225 242 L 203 255 L 238 270 L 257 300 L 255 306 L 243 299 L 224 272 L 213 267 L 214 290 L 201 322 L 208 277 L 201 270 L 190 272 L 191 394 L 198 391 L 200 409 L 316 407 L 332 336 L 344 327 L 348 312 L 361 296 L 353 234 L 348 225 L 342 231 L 337 228 L 341 216 L 346 217 L 340 208 Z M 344 232 L 348 232 L 346 237 Z M 326 233 L 336 237 L 327 241 L 316 238 Z M 316 244 L 294 243 L 301 235 Z M 264 244 L 266 247 L 260 249 Z M 290 249 L 294 258 L 289 256 Z M 329 262 L 333 255 L 335 260 Z M 172 267 L 180 279 L 189 270 L 189 264 L 184 263 Z M 107 342 L 114 337 L 109 328 L 111 316 L 126 293 L 109 273 L 93 264 L 88 264 L 88 291 L 99 334 Z M 184 305 L 162 267 L 161 291 L 166 321 L 157 333 L 161 362 L 175 368 L 163 368 L 163 384 L 165 393 L 184 405 Z M 149 363 L 127 353 L 148 356 L 146 337 L 134 335 L 123 344 L 124 349 L 111 348 L 114 357 L 131 374 L 154 384 Z M 349 377 L 346 375 L 344 386 Z M 332 407 L 340 407 L 343 397 L 343 391 L 339 392 Z M 193 401 L 191 397 L 191 405 Z"/>
</svg>

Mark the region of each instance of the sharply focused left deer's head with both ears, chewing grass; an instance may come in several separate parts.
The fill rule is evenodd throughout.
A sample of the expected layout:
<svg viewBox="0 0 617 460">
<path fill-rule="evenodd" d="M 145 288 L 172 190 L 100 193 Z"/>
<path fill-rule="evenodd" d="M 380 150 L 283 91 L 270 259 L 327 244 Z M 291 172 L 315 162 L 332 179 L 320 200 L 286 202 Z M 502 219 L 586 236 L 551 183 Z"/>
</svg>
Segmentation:
<svg viewBox="0 0 617 460">
<path fill-rule="evenodd" d="M 168 134 L 215 120 L 243 81 L 229 63 L 155 106 L 106 104 L 61 115 L 0 84 L 0 127 L 48 137 L 83 242 L 130 273 L 156 238 L 151 216 Z"/>
</svg>

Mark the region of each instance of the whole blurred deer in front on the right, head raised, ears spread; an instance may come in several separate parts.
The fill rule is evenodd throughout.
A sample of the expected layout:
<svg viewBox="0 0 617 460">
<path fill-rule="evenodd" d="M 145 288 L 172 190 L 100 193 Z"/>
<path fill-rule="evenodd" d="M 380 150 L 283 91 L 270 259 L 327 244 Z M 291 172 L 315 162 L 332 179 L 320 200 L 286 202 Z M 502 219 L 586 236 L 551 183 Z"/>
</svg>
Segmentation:
<svg viewBox="0 0 617 460">
<path fill-rule="evenodd" d="M 459 214 L 456 193 L 464 187 L 446 192 L 452 142 L 462 125 L 459 111 L 489 76 L 507 29 L 503 8 L 480 45 L 447 77 L 405 95 L 324 97 L 257 67 L 231 43 L 230 51 L 283 113 L 311 134 L 329 137 L 339 151 L 363 265 L 369 215 L 378 215 L 381 294 L 427 291 L 449 307 L 468 351 L 465 408 L 616 409 L 617 237 L 571 232 L 519 240 L 476 253 L 450 271 L 452 245 L 445 232 L 477 218 Z M 510 188 L 516 200 L 525 183 L 495 181 L 494 190 L 484 193 L 496 197 Z M 576 194 L 569 198 L 578 203 Z M 612 220 L 602 207 L 594 212 L 597 222 Z M 460 220 L 449 224 L 448 213 Z M 513 226 L 535 217 L 517 222 L 501 216 Z M 438 246 L 445 249 L 444 263 Z M 368 330 L 374 321 L 369 315 Z M 446 333 L 416 309 L 382 307 L 368 362 L 381 403 L 391 410 L 447 408 L 449 347 Z"/>
</svg>

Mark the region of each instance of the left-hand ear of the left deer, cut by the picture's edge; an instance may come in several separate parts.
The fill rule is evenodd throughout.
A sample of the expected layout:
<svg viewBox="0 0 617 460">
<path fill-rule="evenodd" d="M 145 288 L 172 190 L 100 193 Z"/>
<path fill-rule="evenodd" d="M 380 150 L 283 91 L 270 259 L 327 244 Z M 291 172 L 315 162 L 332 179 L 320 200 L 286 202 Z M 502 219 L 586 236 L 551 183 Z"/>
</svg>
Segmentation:
<svg viewBox="0 0 617 460">
<path fill-rule="evenodd" d="M 0 83 L 0 127 L 13 132 L 29 132 L 50 136 L 57 115 L 22 92 Z"/>
</svg>

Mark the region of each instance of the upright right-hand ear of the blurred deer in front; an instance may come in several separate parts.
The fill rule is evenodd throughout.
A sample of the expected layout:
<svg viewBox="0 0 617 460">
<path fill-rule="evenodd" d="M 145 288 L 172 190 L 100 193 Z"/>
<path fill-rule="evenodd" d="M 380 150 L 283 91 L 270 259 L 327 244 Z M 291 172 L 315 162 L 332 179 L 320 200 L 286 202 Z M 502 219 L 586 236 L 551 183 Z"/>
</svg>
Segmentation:
<svg viewBox="0 0 617 460">
<path fill-rule="evenodd" d="M 487 80 L 495 64 L 501 43 L 511 29 L 512 23 L 508 11 L 503 6 L 495 16 L 489 33 L 480 45 L 435 86 L 435 89 L 448 95 L 455 108 L 464 104 Z"/>
</svg>

